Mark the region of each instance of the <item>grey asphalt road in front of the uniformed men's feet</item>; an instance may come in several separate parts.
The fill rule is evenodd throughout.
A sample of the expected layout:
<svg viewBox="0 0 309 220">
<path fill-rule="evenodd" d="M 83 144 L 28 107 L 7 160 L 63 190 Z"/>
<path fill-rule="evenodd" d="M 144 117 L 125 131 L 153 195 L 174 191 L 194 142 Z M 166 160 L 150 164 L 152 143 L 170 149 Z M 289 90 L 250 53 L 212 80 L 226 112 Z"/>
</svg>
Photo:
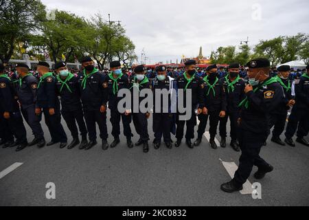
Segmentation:
<svg viewBox="0 0 309 220">
<path fill-rule="evenodd" d="M 108 129 L 111 132 L 109 122 Z M 44 130 L 49 141 L 45 125 Z M 27 131 L 32 140 L 28 126 Z M 108 142 L 112 141 L 110 136 Z M 0 206 L 308 206 L 309 148 L 278 146 L 268 140 L 261 154 L 275 170 L 260 181 L 262 199 L 253 199 L 220 190 L 220 184 L 231 179 L 221 161 L 238 164 L 240 153 L 231 147 L 213 150 L 205 137 L 193 150 L 183 144 L 171 150 L 150 148 L 147 154 L 141 147 L 129 149 L 125 138 L 108 151 L 100 145 L 90 151 L 57 145 L 27 147 L 19 153 L 0 148 L 0 172 L 23 163 L 0 177 Z M 253 173 L 249 181 L 255 182 Z M 45 197 L 48 182 L 56 185 L 56 199 Z"/>
</svg>

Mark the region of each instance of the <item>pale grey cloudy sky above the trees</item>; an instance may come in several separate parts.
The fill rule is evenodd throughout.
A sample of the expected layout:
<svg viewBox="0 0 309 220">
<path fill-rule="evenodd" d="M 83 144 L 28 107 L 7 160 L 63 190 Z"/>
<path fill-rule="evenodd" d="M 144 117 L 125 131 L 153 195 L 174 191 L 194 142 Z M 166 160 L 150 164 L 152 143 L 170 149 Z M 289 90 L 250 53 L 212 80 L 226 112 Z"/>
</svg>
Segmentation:
<svg viewBox="0 0 309 220">
<path fill-rule="evenodd" d="M 308 0 L 43 0 L 47 9 L 121 20 L 146 63 L 196 57 L 219 46 L 255 45 L 279 35 L 309 33 Z"/>
</svg>

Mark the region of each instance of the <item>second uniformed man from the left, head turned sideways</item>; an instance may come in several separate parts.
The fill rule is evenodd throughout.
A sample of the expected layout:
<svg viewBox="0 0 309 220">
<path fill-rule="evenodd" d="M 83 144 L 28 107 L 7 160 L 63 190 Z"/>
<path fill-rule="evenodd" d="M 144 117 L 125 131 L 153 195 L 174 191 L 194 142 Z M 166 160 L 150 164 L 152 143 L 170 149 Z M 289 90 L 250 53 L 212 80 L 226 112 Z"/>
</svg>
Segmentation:
<svg viewBox="0 0 309 220">
<path fill-rule="evenodd" d="M 45 146 L 44 132 L 40 123 L 41 115 L 35 113 L 38 79 L 30 74 L 28 66 L 23 63 L 16 65 L 16 72 L 19 75 L 19 80 L 16 80 L 15 88 L 21 104 L 21 113 L 23 113 L 23 118 L 25 118 L 34 134 L 34 140 L 28 146 L 37 144 L 41 148 Z"/>
</svg>

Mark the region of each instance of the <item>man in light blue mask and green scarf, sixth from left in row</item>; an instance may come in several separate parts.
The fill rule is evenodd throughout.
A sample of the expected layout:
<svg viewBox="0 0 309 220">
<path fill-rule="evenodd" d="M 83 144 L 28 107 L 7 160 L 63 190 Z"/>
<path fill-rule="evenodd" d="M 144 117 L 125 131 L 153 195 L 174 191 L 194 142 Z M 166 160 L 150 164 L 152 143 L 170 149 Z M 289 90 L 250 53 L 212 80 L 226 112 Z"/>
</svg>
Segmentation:
<svg viewBox="0 0 309 220">
<path fill-rule="evenodd" d="M 119 113 L 118 102 L 122 98 L 117 97 L 118 91 L 120 89 L 130 89 L 129 80 L 126 74 L 122 73 L 122 67 L 119 61 L 113 61 L 110 63 L 111 73 L 108 74 L 104 79 L 104 93 L 108 94 L 108 109 L 111 109 L 111 124 L 113 126 L 112 135 L 114 141 L 111 143 L 111 148 L 114 148 L 119 144 L 120 135 L 120 119 L 122 119 L 122 124 L 124 126 L 124 136 L 126 136 L 126 143 L 129 148 L 133 148 L 133 142 L 131 137 L 133 134 L 131 132 L 130 123 L 132 122 L 132 115 L 129 109 L 124 113 Z"/>
</svg>

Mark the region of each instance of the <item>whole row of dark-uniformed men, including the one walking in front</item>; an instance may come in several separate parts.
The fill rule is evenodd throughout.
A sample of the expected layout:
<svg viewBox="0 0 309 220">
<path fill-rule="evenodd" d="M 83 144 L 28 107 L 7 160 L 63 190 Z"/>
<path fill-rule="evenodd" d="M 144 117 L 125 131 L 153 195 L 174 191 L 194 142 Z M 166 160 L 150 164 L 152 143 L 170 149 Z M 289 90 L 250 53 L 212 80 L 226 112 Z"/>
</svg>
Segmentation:
<svg viewBox="0 0 309 220">
<path fill-rule="evenodd" d="M 133 91 L 134 88 L 138 88 L 139 91 L 184 89 L 185 94 L 188 89 L 192 91 L 192 114 L 187 120 L 179 120 L 182 113 L 157 112 L 155 107 L 153 108 L 152 130 L 155 133 L 155 149 L 160 147 L 162 136 L 165 146 L 172 148 L 171 133 L 176 137 L 176 147 L 181 146 L 184 135 L 185 144 L 189 148 L 200 145 L 208 121 L 211 148 L 218 147 L 215 142 L 218 126 L 220 146 L 225 148 L 229 119 L 230 145 L 235 151 L 241 150 L 242 153 L 235 177 L 221 186 L 226 192 L 241 190 L 253 166 L 258 166 L 258 171 L 254 174 L 256 179 L 262 179 L 266 173 L 273 170 L 273 166 L 259 155 L 273 126 L 273 142 L 295 146 L 293 136 L 297 131 L 296 141 L 309 146 L 308 141 L 304 139 L 309 131 L 309 66 L 304 74 L 294 79 L 291 78 L 290 66 L 286 65 L 277 68 L 277 72 L 273 74 L 270 63 L 265 58 L 257 58 L 247 63 L 247 76 L 238 63 L 229 65 L 227 74 L 222 75 L 221 69 L 216 65 L 210 65 L 206 72 L 201 74 L 200 69 L 196 70 L 196 61 L 192 60 L 185 63 L 183 74 L 178 76 L 174 76 L 170 69 L 161 65 L 155 69 L 154 79 L 150 81 L 147 77 L 149 73 L 143 65 L 135 67 L 132 74 L 124 74 L 119 61 L 111 62 L 109 72 L 105 69 L 104 73 L 95 68 L 89 56 L 84 57 L 81 63 L 82 72 L 76 76 L 69 72 L 63 62 L 56 63 L 52 72 L 49 64 L 41 61 L 36 69 L 39 78 L 31 74 L 25 64 L 16 65 L 18 78 L 10 78 L 5 74 L 5 67 L 0 64 L 0 144 L 3 148 L 16 146 L 16 151 L 21 151 L 26 146 L 45 146 L 41 126 L 44 114 L 45 124 L 52 137 L 47 146 L 57 143 L 60 143 L 60 148 L 67 146 L 67 135 L 61 124 L 62 115 L 73 137 L 73 141 L 67 146 L 69 149 L 78 144 L 80 149 L 85 150 L 95 146 L 96 124 L 100 130 L 103 150 L 108 149 L 108 146 L 117 146 L 120 142 L 121 120 L 126 144 L 132 148 L 133 132 L 130 124 L 133 120 L 139 135 L 139 141 L 135 145 L 143 146 L 143 151 L 147 153 L 150 112 L 141 113 L 128 109 L 119 113 L 117 109 L 121 100 L 117 97 L 120 89 Z M 139 102 L 142 100 L 144 98 L 139 98 Z M 183 102 L 186 104 L 186 100 Z M 171 102 L 168 109 L 170 105 Z M 107 107 L 111 111 L 111 144 L 107 142 Z M 284 131 L 290 109 L 292 111 L 284 134 L 286 139 L 282 141 L 280 135 Z M 32 129 L 34 139 L 31 142 L 27 142 L 23 118 Z M 197 138 L 192 143 L 197 118 Z"/>
</svg>

